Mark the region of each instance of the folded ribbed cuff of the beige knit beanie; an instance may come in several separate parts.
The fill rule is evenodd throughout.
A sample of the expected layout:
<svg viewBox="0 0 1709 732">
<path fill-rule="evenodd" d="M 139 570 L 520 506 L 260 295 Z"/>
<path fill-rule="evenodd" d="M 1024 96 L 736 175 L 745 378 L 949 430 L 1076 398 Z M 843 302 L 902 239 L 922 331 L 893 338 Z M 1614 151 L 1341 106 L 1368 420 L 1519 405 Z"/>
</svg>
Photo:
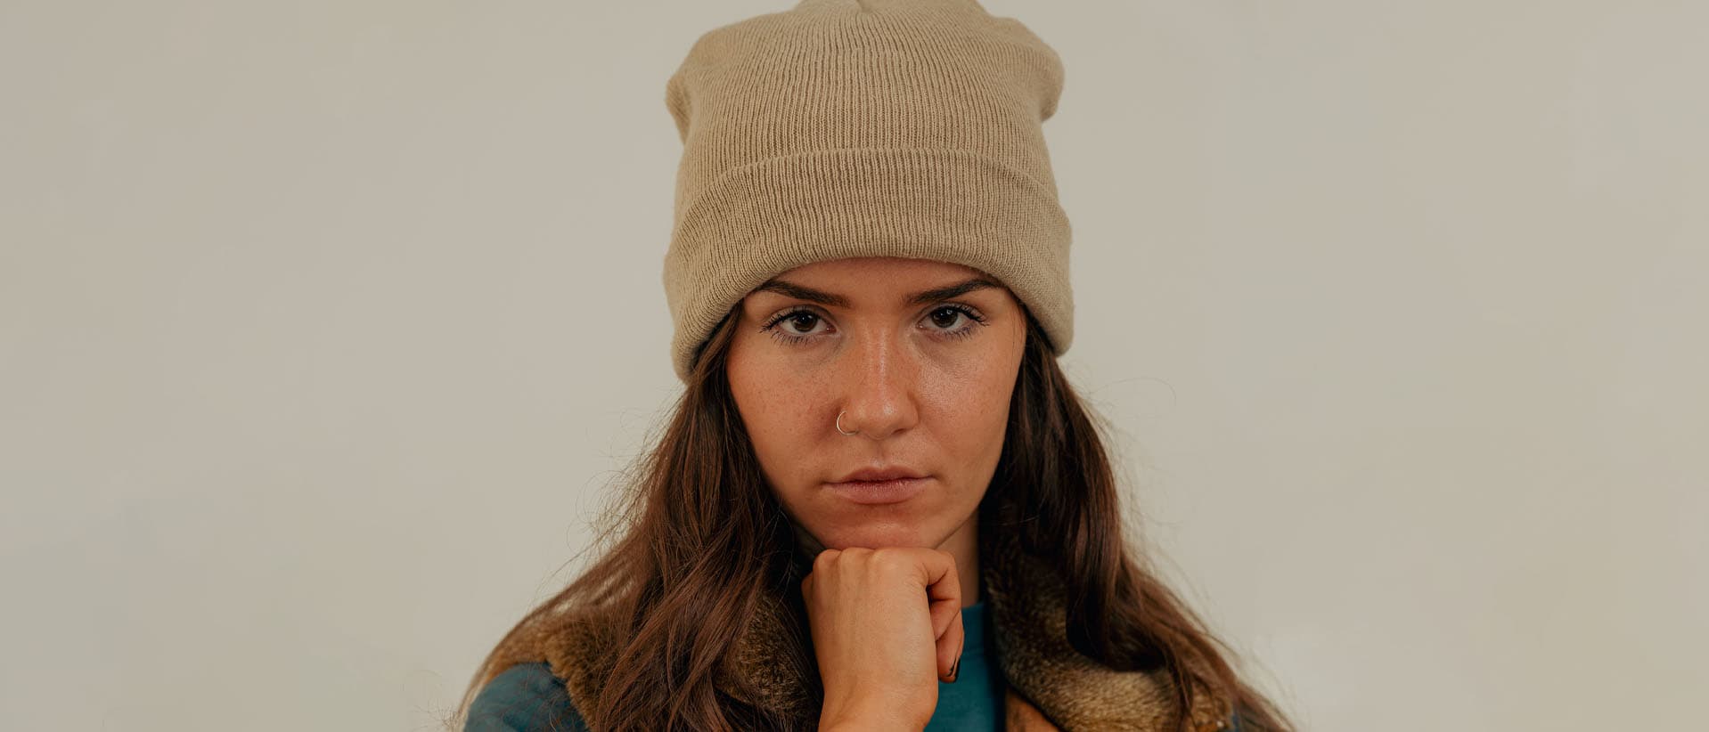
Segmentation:
<svg viewBox="0 0 1709 732">
<path fill-rule="evenodd" d="M 983 270 L 1056 353 L 1073 338 L 1070 224 L 1051 183 L 960 148 L 820 148 L 725 171 L 682 206 L 665 256 L 684 382 L 696 348 L 749 292 L 825 259 L 896 256 Z M 689 278 L 694 282 L 689 282 Z"/>
</svg>

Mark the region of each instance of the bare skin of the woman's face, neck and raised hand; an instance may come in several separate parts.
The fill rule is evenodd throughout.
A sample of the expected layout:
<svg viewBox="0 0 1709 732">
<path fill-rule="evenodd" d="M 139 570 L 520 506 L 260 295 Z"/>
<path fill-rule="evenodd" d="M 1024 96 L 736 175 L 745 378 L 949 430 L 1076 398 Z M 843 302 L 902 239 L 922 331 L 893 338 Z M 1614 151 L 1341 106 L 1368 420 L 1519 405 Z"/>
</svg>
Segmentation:
<svg viewBox="0 0 1709 732">
<path fill-rule="evenodd" d="M 995 287 L 909 302 L 972 278 Z M 766 481 L 817 555 L 803 594 L 824 718 L 877 710 L 923 725 L 960 655 L 959 607 L 981 597 L 978 507 L 1003 449 L 1025 312 L 996 278 L 943 261 L 832 259 L 767 285 L 779 282 L 846 300 L 762 285 L 742 300 L 726 363 Z M 837 413 L 856 435 L 837 432 Z M 925 473 L 926 490 L 860 505 L 825 488 L 880 462 Z"/>
</svg>

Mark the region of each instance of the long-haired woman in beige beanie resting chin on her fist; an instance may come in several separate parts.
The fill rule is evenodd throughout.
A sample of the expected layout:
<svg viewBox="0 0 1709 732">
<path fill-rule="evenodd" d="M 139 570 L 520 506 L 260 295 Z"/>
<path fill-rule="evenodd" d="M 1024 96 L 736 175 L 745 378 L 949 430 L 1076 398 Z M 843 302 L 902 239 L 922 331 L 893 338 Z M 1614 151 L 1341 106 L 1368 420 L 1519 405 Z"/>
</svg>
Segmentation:
<svg viewBox="0 0 1709 732">
<path fill-rule="evenodd" d="M 1041 123 L 972 0 L 704 34 L 665 258 L 685 391 L 620 536 L 470 683 L 468 730 L 1280 730 L 1123 539 Z"/>
</svg>

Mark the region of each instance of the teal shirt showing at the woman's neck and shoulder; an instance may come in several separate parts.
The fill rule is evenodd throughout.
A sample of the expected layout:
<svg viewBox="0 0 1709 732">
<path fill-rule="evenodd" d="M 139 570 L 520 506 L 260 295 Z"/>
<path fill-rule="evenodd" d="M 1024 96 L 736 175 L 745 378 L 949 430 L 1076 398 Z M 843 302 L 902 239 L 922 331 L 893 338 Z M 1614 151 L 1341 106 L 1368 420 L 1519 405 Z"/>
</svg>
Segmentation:
<svg viewBox="0 0 1709 732">
<path fill-rule="evenodd" d="M 988 732 L 1003 729 L 1003 672 L 991 638 L 984 601 L 962 607 L 960 672 L 954 684 L 938 681 L 938 708 L 926 732 Z M 591 732 L 569 700 L 564 681 L 547 664 L 518 664 L 496 676 L 470 703 L 465 732 Z M 1239 720 L 1230 732 L 1239 730 Z"/>
</svg>

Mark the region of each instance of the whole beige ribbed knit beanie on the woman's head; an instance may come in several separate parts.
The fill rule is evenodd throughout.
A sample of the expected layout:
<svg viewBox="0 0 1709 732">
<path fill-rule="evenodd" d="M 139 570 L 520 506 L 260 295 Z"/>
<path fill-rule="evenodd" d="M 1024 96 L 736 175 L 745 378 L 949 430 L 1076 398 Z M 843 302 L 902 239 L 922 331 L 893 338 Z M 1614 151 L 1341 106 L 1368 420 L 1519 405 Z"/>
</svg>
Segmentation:
<svg viewBox="0 0 1709 732">
<path fill-rule="evenodd" d="M 1056 51 L 976 0 L 800 0 L 704 32 L 665 87 L 677 377 L 755 287 L 856 256 L 983 270 L 1066 351 L 1070 227 L 1041 126 L 1061 87 Z"/>
</svg>

